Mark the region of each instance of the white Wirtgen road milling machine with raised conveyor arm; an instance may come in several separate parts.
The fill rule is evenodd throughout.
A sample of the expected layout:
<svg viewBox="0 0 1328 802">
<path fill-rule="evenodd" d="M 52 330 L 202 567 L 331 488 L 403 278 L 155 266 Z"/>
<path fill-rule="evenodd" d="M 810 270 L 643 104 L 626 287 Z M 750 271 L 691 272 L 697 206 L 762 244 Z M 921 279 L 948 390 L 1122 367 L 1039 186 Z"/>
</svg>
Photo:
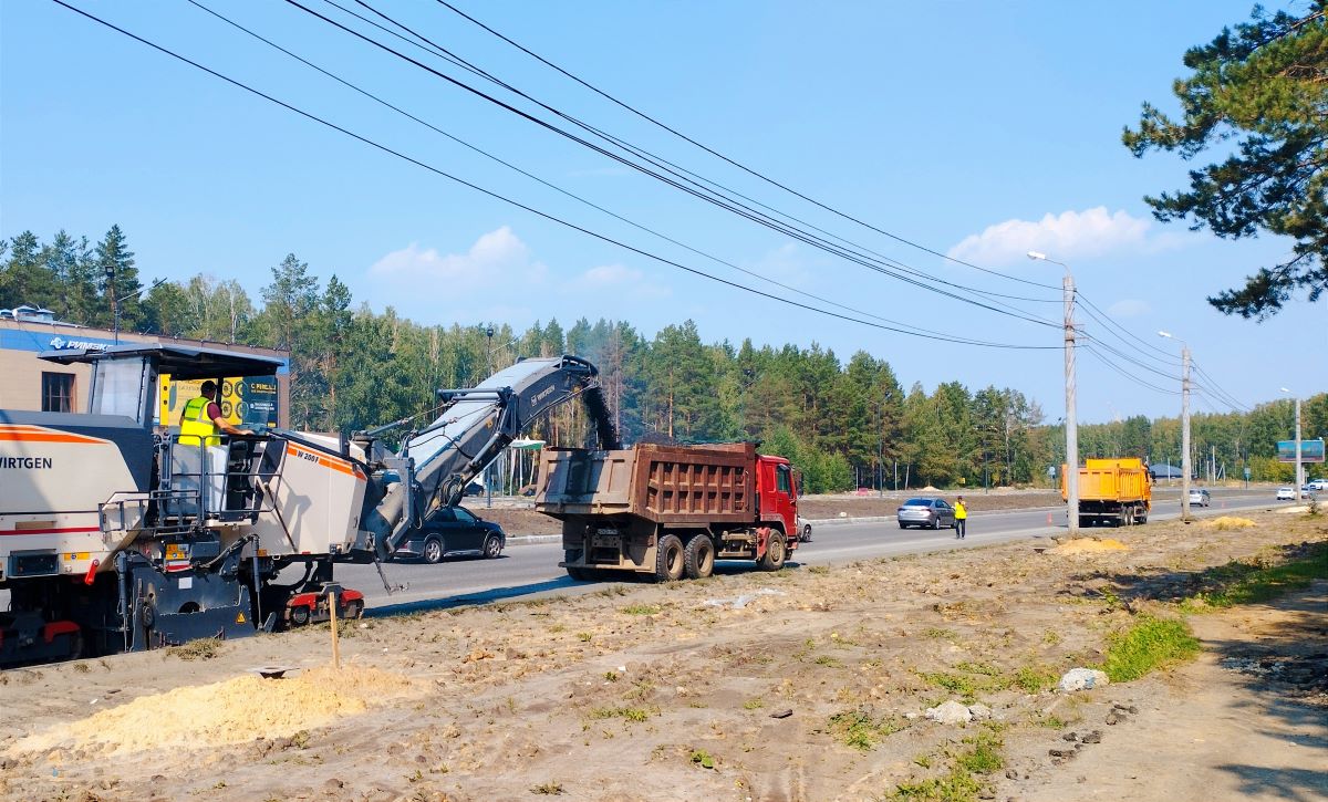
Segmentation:
<svg viewBox="0 0 1328 802">
<path fill-rule="evenodd" d="M 618 445 L 598 370 L 572 356 L 438 390 L 420 429 L 424 416 L 203 442 L 154 421 L 159 376 L 220 382 L 280 361 L 169 344 L 41 359 L 90 365 L 88 413 L 0 410 L 0 668 L 280 629 L 309 619 L 309 594 L 359 615 L 335 563 L 390 556 L 551 408 L 580 397 L 603 447 Z"/>
</svg>

